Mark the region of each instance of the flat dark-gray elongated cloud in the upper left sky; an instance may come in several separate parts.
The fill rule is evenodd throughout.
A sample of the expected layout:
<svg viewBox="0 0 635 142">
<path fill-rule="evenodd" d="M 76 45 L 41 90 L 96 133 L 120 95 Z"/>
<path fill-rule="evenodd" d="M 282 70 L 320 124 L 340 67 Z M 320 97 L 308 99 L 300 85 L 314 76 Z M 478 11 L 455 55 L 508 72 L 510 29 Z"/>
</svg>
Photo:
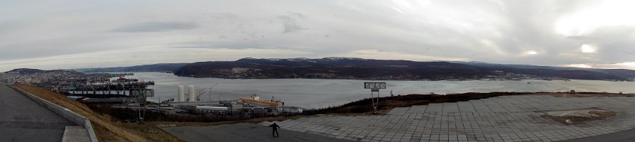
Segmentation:
<svg viewBox="0 0 635 142">
<path fill-rule="evenodd" d="M 184 22 L 144 22 L 133 23 L 126 26 L 114 28 L 112 32 L 161 32 L 161 31 L 175 31 L 175 30 L 188 30 L 192 28 L 198 28 L 195 23 Z"/>
</svg>

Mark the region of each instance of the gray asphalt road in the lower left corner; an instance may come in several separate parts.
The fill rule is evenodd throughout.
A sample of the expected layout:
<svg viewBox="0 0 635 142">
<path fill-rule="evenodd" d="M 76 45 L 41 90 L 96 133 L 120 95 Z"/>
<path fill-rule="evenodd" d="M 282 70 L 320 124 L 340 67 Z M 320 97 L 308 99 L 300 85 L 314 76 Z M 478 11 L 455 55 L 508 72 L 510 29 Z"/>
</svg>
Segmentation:
<svg viewBox="0 0 635 142">
<path fill-rule="evenodd" d="M 0 84 L 0 141 L 61 141 L 71 121 Z"/>
</svg>

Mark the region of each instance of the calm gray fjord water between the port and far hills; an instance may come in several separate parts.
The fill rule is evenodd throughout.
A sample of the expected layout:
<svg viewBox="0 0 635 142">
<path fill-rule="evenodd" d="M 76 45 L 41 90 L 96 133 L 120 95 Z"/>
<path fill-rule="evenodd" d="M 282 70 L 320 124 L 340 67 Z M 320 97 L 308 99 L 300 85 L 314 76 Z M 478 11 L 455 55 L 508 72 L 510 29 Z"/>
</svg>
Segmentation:
<svg viewBox="0 0 635 142">
<path fill-rule="evenodd" d="M 260 98 L 282 99 L 285 106 L 316 109 L 337 106 L 347 102 L 370 97 L 370 90 L 363 88 L 364 82 L 387 82 L 387 89 L 380 90 L 380 96 L 392 94 L 436 94 L 464 92 L 635 92 L 635 82 L 609 82 L 597 80 L 469 80 L 469 81 L 368 81 L 368 80 L 319 80 L 319 79 L 250 79 L 230 80 L 219 78 L 178 77 L 169 73 L 136 72 L 128 78 L 153 80 L 156 85 L 155 97 L 176 99 L 178 85 L 194 85 L 202 101 L 238 99 L 256 93 Z M 528 84 L 529 82 L 530 84 Z M 211 90 L 209 87 L 218 83 Z M 205 89 L 206 88 L 206 89 Z M 186 90 L 187 92 L 187 90 Z"/>
</svg>

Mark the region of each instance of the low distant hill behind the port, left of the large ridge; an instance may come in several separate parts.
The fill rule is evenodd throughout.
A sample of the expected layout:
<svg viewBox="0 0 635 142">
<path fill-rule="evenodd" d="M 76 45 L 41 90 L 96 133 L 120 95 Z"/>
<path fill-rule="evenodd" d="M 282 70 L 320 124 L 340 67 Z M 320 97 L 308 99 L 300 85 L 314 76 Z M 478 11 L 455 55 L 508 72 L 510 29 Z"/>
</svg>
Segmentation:
<svg viewBox="0 0 635 142">
<path fill-rule="evenodd" d="M 163 63 L 153 65 L 136 65 L 131 67 L 103 67 L 72 69 L 78 72 L 174 72 L 188 63 Z"/>
</svg>

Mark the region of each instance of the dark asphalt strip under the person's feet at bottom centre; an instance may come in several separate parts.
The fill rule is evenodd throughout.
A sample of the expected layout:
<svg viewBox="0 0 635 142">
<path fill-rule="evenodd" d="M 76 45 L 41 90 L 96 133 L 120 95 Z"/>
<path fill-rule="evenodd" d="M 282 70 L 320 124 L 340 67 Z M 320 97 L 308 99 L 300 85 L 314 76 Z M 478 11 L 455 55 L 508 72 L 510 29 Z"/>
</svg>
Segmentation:
<svg viewBox="0 0 635 142">
<path fill-rule="evenodd" d="M 284 128 L 284 126 L 280 126 Z M 280 137 L 273 137 L 267 126 L 258 124 L 228 124 L 219 126 L 182 126 L 165 128 L 174 136 L 189 142 L 198 141 L 347 141 L 310 133 L 278 129 Z"/>
</svg>

